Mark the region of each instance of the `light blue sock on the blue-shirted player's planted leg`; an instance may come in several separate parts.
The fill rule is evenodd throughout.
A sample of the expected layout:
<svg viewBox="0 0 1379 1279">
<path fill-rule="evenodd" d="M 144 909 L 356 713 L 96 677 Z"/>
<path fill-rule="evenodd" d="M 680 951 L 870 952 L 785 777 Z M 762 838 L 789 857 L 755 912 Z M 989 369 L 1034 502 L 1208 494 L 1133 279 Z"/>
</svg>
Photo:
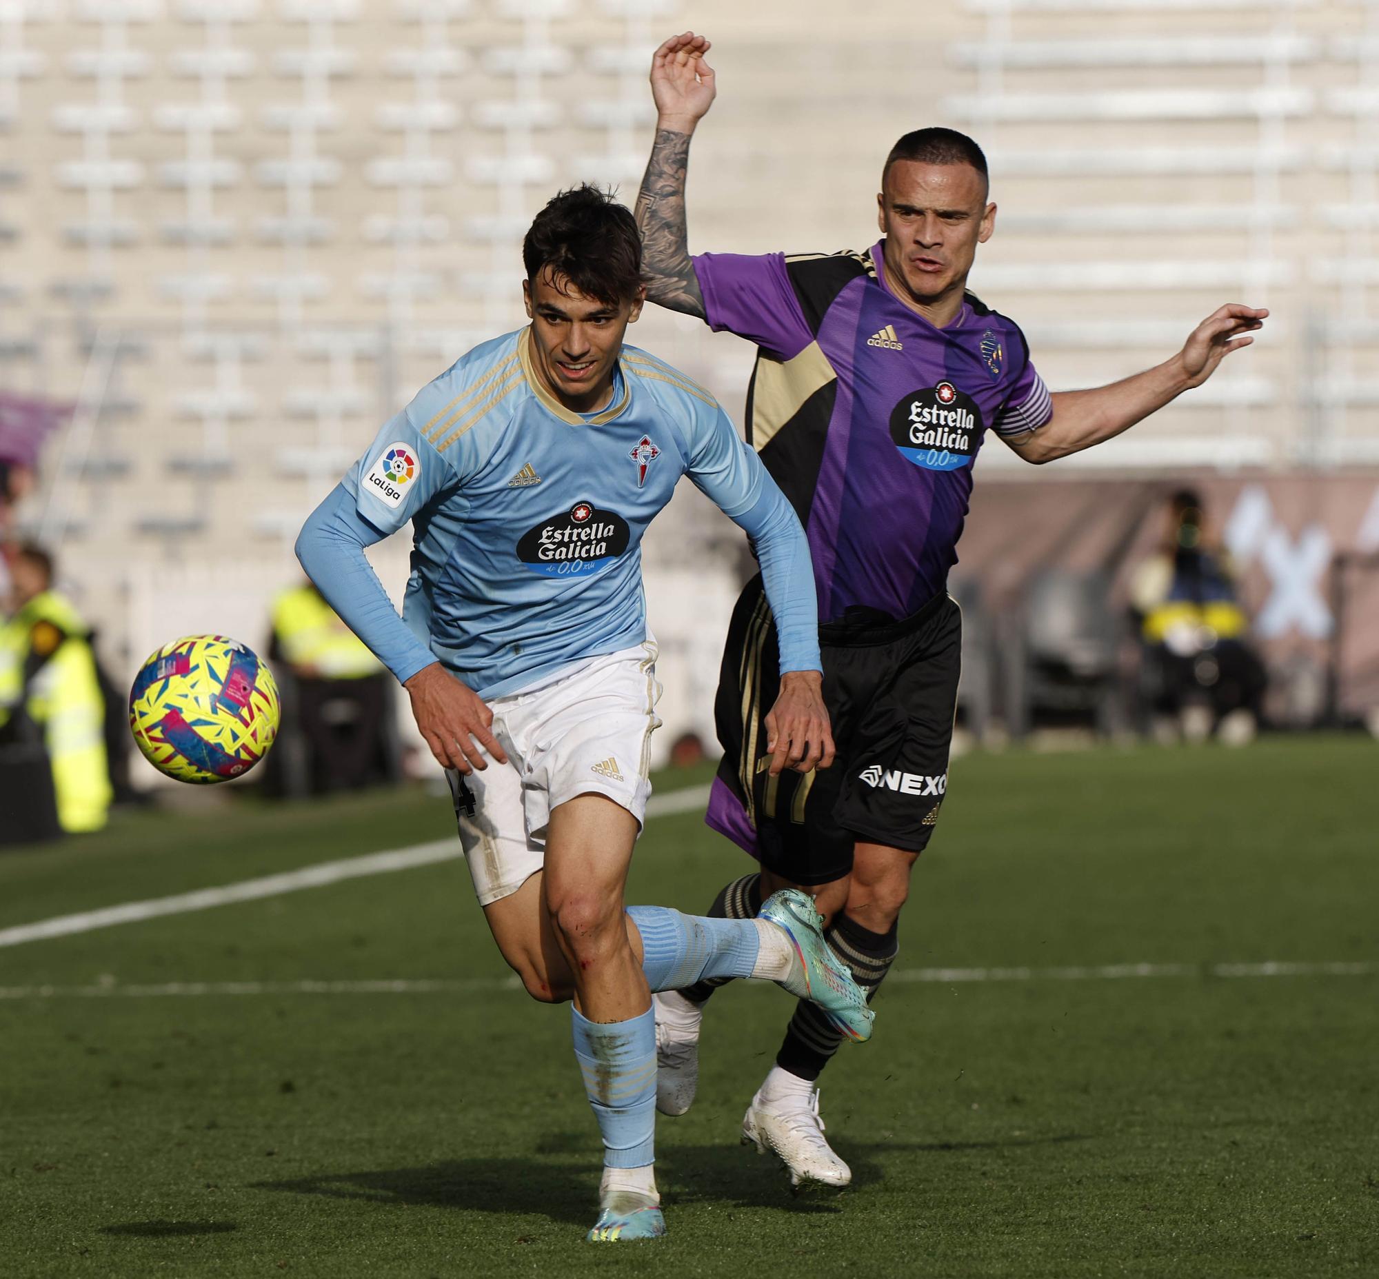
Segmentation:
<svg viewBox="0 0 1379 1279">
<path fill-rule="evenodd" d="M 655 1162 L 656 1014 L 647 1009 L 630 1021 L 590 1021 L 570 1007 L 575 1057 L 585 1093 L 604 1138 L 605 1167 L 644 1167 Z"/>
</svg>

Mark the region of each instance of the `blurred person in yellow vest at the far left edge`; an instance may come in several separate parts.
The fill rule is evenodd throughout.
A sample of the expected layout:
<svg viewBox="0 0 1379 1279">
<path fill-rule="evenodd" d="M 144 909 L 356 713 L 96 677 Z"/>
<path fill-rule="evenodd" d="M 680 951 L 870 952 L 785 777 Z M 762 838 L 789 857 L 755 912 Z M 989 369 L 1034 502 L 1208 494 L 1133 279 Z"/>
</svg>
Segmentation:
<svg viewBox="0 0 1379 1279">
<path fill-rule="evenodd" d="M 33 542 L 10 558 L 12 612 L 0 627 L 0 842 L 98 831 L 113 798 L 106 696 L 91 634 L 52 589 Z"/>
</svg>

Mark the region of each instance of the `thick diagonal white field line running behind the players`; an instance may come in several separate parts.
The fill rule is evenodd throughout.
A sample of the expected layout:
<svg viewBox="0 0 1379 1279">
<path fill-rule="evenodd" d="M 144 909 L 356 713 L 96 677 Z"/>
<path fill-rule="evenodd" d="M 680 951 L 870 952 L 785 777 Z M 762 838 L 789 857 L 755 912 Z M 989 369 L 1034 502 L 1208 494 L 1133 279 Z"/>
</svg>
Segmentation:
<svg viewBox="0 0 1379 1279">
<path fill-rule="evenodd" d="M 687 813 L 707 802 L 707 786 L 692 786 L 670 791 L 666 795 L 652 795 L 647 802 L 647 817 Z M 99 928 L 113 928 L 116 923 L 138 923 L 142 919 L 159 919 L 163 915 L 185 915 L 188 911 L 205 911 L 214 905 L 229 905 L 233 901 L 258 901 L 262 897 L 279 897 L 283 893 L 295 893 L 306 888 L 324 888 L 328 883 L 359 879 L 363 875 L 386 875 L 390 871 L 407 871 L 418 866 L 433 866 L 437 861 L 452 861 L 459 856 L 456 837 L 437 839 L 434 843 L 390 849 L 383 853 L 367 853 L 361 857 L 342 857 L 339 861 L 319 861 L 316 866 L 303 866 L 301 870 L 285 871 L 281 875 L 265 875 L 262 879 L 243 879 L 239 883 L 203 888 L 192 893 L 178 893 L 174 897 L 125 901 L 123 905 L 108 905 L 76 915 L 58 915 L 52 919 L 40 919 L 37 923 L 19 923 L 14 928 L 0 929 L 0 947 L 43 941 L 47 937 L 69 937 L 73 933 L 90 933 Z"/>
</svg>

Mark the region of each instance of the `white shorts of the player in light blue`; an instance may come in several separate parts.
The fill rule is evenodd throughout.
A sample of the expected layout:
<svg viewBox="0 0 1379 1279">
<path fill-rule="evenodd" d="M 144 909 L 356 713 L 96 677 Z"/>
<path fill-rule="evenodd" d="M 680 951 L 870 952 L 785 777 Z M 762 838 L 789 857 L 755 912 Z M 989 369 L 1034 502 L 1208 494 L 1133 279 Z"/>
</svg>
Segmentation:
<svg viewBox="0 0 1379 1279">
<path fill-rule="evenodd" d="M 467 777 L 445 770 L 480 905 L 516 893 L 541 870 L 556 805 L 594 791 L 641 824 L 659 697 L 656 644 L 647 640 L 488 703 L 507 764 L 490 758 Z"/>
</svg>

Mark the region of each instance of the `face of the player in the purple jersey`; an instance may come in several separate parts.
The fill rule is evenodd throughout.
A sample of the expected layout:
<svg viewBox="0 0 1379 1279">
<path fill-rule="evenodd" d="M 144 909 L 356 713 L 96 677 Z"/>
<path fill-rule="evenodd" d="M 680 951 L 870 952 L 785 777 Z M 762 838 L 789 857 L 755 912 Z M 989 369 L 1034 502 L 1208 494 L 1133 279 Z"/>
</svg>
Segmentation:
<svg viewBox="0 0 1379 1279">
<path fill-rule="evenodd" d="M 940 328 L 963 306 L 976 247 L 992 237 L 996 205 L 971 164 L 896 160 L 876 197 L 885 233 L 885 280 L 902 302 Z"/>
</svg>

